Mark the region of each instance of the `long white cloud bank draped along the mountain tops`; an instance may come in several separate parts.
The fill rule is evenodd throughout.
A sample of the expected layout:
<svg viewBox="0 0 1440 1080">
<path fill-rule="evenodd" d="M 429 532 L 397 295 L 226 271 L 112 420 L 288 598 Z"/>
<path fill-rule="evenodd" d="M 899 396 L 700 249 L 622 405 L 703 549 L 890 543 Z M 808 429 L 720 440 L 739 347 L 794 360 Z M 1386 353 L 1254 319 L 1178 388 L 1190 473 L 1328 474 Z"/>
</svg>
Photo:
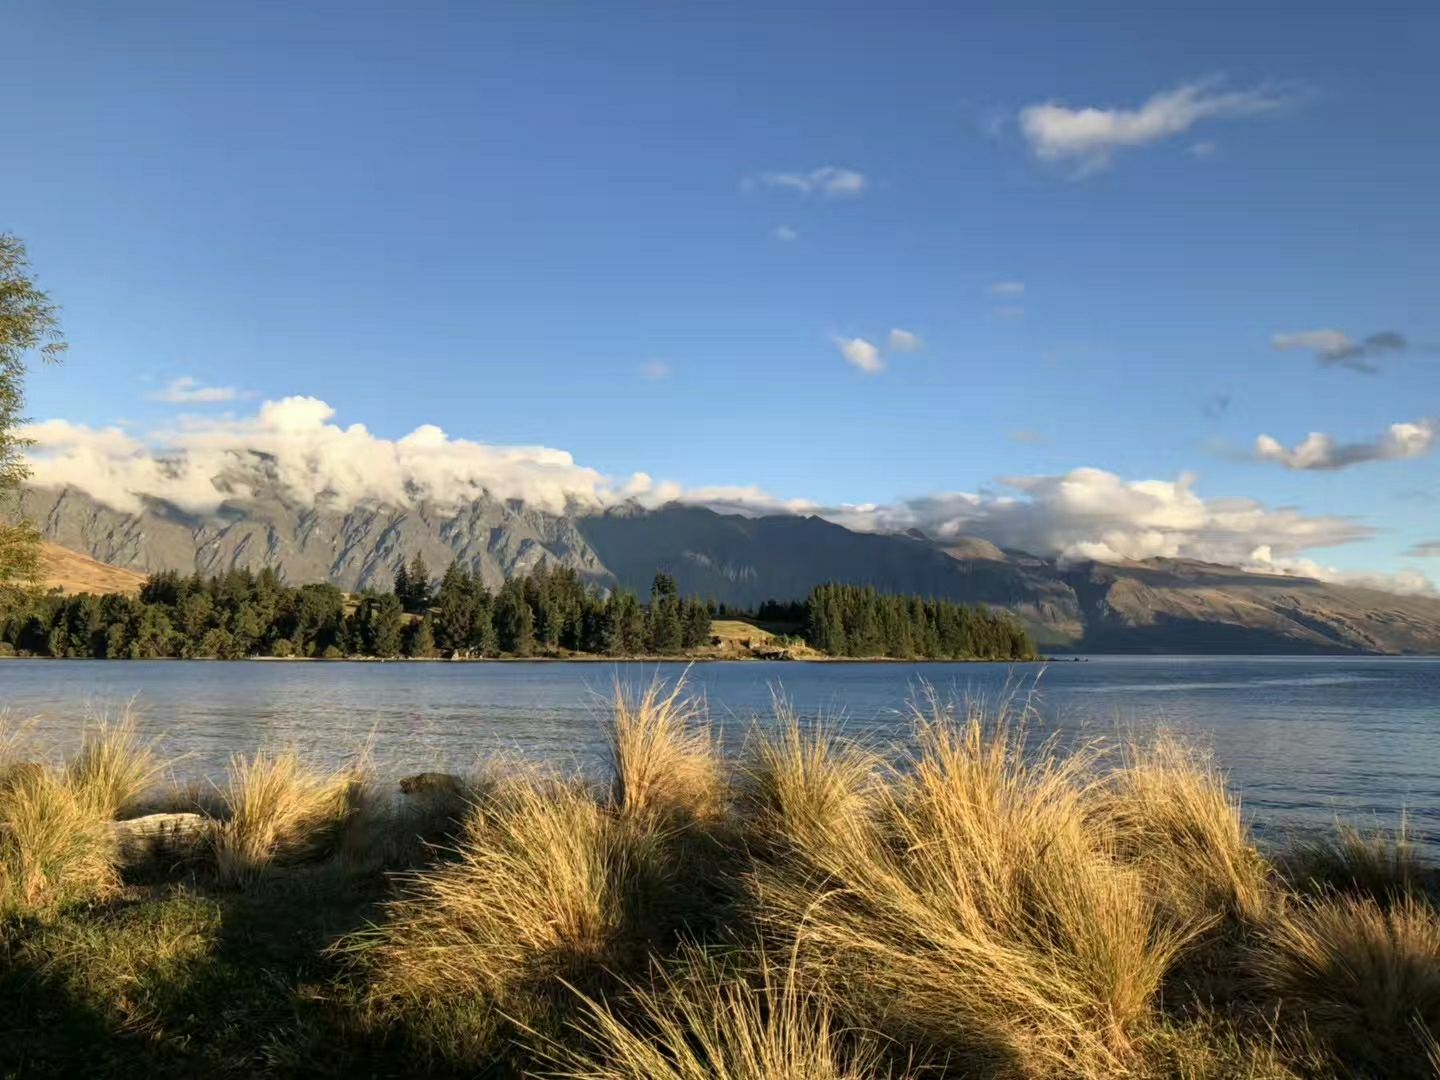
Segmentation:
<svg viewBox="0 0 1440 1080">
<path fill-rule="evenodd" d="M 156 498 L 206 514 L 256 491 L 334 507 L 456 505 L 490 494 L 552 514 L 683 501 L 747 516 L 816 514 L 860 531 L 975 536 L 1061 560 L 1174 556 L 1322 575 L 1308 552 L 1372 534 L 1348 517 L 1208 498 L 1189 475 L 1128 480 L 1097 468 L 1008 477 L 994 490 L 888 504 L 827 505 L 746 485 L 685 488 L 647 472 L 608 477 L 562 449 L 490 445 L 433 425 L 386 439 L 360 423 L 341 426 L 315 397 L 265 402 L 251 416 L 180 418 L 145 435 L 66 420 L 32 425 L 27 433 L 36 485 L 72 485 L 125 513 Z"/>
</svg>

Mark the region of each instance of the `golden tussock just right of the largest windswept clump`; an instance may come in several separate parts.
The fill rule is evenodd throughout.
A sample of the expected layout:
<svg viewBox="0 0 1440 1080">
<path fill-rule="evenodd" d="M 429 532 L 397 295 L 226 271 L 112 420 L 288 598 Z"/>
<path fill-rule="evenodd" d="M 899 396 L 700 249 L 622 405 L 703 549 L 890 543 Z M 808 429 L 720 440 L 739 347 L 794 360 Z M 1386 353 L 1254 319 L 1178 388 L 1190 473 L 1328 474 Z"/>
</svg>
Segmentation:
<svg viewBox="0 0 1440 1080">
<path fill-rule="evenodd" d="M 1097 827 L 1185 920 L 1263 920 L 1277 893 L 1214 762 L 1176 737 L 1129 744 L 1094 789 Z"/>
</svg>

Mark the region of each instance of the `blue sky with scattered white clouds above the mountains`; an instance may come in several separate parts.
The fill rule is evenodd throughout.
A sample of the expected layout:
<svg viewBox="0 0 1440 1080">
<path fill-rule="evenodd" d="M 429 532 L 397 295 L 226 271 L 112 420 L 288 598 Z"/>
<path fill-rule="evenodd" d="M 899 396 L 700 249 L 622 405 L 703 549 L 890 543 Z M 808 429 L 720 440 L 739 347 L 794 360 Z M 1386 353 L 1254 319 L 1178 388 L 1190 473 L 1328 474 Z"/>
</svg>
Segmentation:
<svg viewBox="0 0 1440 1080">
<path fill-rule="evenodd" d="M 1440 580 L 1433 3 L 4 7 L 40 480 Z"/>
</svg>

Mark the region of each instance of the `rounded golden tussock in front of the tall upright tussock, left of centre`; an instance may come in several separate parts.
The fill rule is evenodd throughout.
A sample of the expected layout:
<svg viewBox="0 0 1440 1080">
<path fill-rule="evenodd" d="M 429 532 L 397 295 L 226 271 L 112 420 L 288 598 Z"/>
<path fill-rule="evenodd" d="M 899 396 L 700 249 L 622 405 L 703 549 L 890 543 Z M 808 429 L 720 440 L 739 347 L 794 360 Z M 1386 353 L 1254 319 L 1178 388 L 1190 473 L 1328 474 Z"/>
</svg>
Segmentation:
<svg viewBox="0 0 1440 1080">
<path fill-rule="evenodd" d="M 662 943 L 664 838 L 577 782 L 523 776 L 471 812 L 448 861 L 410 874 L 361 943 L 372 1001 L 478 1001 L 543 1024 L 567 985 L 644 969 Z"/>
</svg>

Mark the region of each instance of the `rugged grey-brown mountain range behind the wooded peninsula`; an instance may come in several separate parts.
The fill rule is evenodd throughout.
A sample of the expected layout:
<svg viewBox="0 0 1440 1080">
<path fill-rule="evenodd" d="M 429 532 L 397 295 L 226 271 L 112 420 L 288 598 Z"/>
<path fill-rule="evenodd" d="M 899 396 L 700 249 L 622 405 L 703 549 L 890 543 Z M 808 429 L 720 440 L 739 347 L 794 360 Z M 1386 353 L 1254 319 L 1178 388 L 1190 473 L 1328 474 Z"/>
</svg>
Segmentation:
<svg viewBox="0 0 1440 1080">
<path fill-rule="evenodd" d="M 1002 606 L 1050 651 L 1440 652 L 1434 598 L 1182 559 L 1061 563 L 981 539 L 857 533 L 795 514 L 681 504 L 554 514 L 485 495 L 444 508 L 340 507 L 275 487 L 209 513 L 160 500 L 121 511 L 75 487 L 33 488 L 22 508 L 46 540 L 141 573 L 272 566 L 289 582 L 384 589 L 422 554 L 436 573 L 459 560 L 491 588 L 550 563 L 645 593 L 662 569 L 685 593 L 746 608 L 829 580 Z"/>
</svg>

